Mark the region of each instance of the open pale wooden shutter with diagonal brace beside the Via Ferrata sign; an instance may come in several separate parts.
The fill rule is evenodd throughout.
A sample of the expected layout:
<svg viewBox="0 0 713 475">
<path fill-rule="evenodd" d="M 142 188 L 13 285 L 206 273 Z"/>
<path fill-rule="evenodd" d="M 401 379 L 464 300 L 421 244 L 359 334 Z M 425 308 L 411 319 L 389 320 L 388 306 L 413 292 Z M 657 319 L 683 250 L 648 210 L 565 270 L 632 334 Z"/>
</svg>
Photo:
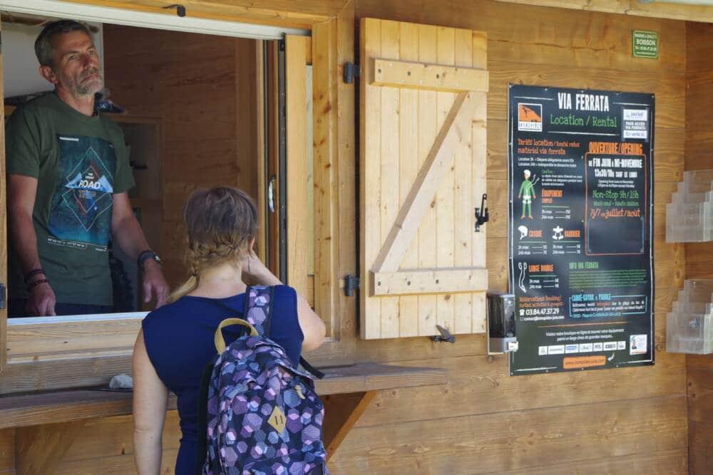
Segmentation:
<svg viewBox="0 0 713 475">
<path fill-rule="evenodd" d="M 486 46 L 361 20 L 361 338 L 485 331 Z"/>
</svg>

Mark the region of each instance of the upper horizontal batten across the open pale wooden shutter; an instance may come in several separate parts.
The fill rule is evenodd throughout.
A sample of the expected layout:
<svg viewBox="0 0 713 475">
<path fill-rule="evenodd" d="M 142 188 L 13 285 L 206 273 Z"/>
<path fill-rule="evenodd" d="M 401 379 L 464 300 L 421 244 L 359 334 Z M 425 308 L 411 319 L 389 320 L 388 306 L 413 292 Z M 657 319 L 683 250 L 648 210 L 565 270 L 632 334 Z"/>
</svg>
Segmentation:
<svg viewBox="0 0 713 475">
<path fill-rule="evenodd" d="M 372 85 L 447 93 L 488 92 L 488 71 L 483 69 L 385 58 L 374 58 L 373 61 Z"/>
</svg>

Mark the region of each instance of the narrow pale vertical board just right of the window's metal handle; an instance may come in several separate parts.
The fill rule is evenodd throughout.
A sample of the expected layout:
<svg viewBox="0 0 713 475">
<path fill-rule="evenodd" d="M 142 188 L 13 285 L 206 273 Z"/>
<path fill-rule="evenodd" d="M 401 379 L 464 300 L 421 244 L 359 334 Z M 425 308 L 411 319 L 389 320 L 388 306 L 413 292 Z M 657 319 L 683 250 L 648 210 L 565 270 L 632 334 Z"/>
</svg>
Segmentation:
<svg viewBox="0 0 713 475">
<path fill-rule="evenodd" d="M 287 114 L 287 284 L 307 295 L 307 42 L 304 36 L 285 38 L 285 108 Z"/>
</svg>

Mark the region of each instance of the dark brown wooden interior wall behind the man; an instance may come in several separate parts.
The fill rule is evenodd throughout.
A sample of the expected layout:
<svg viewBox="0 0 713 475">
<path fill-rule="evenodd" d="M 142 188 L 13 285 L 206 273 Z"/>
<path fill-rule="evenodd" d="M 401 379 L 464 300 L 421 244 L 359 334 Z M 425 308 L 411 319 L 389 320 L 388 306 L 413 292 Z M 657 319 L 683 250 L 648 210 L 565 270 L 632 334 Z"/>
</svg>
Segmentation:
<svg viewBox="0 0 713 475">
<path fill-rule="evenodd" d="M 127 41 L 126 38 L 131 38 Z M 182 212 L 197 187 L 229 184 L 257 197 L 255 44 L 250 39 L 106 26 L 111 98 L 163 118 L 165 275 L 185 278 Z"/>
</svg>

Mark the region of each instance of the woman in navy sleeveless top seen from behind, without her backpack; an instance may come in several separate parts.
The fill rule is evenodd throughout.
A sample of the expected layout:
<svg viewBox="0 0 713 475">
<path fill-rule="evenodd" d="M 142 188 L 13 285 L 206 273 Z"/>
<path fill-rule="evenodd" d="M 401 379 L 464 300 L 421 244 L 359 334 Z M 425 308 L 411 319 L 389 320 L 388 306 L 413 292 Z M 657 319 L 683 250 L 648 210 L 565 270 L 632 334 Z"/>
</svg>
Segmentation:
<svg viewBox="0 0 713 475">
<path fill-rule="evenodd" d="M 257 210 L 238 189 L 217 187 L 195 192 L 183 212 L 188 234 L 186 264 L 191 277 L 143 320 L 133 354 L 134 451 L 138 473 L 158 474 L 161 434 L 168 391 L 178 396 L 183 437 L 175 473 L 195 471 L 198 394 L 202 370 L 215 357 L 213 336 L 221 320 L 242 315 L 247 278 L 276 286 L 270 338 L 297 365 L 302 350 L 319 347 L 324 323 L 307 300 L 283 286 L 252 252 Z M 226 315 L 228 306 L 235 314 Z M 230 341 L 240 329 L 224 335 Z"/>
</svg>

